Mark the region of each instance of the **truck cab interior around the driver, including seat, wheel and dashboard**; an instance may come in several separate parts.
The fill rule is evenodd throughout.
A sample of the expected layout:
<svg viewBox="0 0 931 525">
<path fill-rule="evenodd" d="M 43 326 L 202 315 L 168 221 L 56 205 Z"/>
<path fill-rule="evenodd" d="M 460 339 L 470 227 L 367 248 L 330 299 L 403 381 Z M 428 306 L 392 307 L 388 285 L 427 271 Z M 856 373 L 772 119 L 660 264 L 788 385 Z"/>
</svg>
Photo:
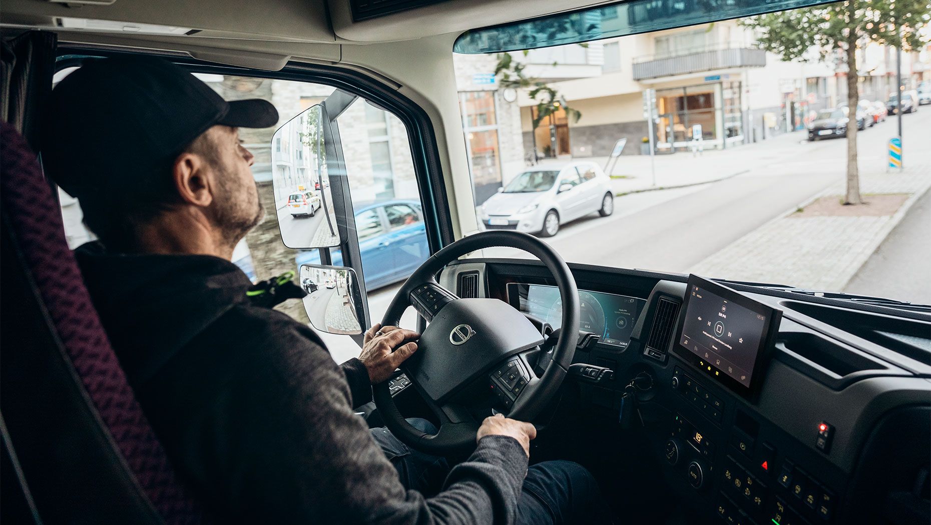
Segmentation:
<svg viewBox="0 0 931 525">
<path fill-rule="evenodd" d="M 200 523 L 213 514 L 184 488 L 128 387 L 71 252 L 86 240 L 68 216 L 74 203 L 36 158 L 40 126 L 54 123 L 43 114 L 53 83 L 88 60 L 140 54 L 182 65 L 224 97 L 278 107 L 274 129 L 244 137 L 273 206 L 247 238 L 249 271 L 296 270 L 296 282 L 314 283 L 293 311 L 329 333 L 334 355 L 358 353 L 375 322 L 422 333 L 415 358 L 373 387 L 375 407 L 360 413 L 372 426 L 456 458 L 492 411 L 531 421 L 531 462 L 586 466 L 617 523 L 931 522 L 931 307 L 588 264 L 513 231 L 519 219 L 496 225 L 477 211 L 488 170 L 472 135 L 493 123 L 457 88 L 456 57 L 586 50 L 819 3 L 5 1 L 2 519 Z M 479 77 L 470 80 L 494 82 Z M 585 177 L 566 193 L 576 184 Z M 314 217 L 291 216 L 295 192 L 319 200 Z M 369 206 L 385 200 L 407 208 Z M 636 235 L 647 224 L 637 217 L 603 243 Z M 260 242 L 284 255 L 269 262 Z M 319 264 L 295 268 L 298 250 L 314 250 Z M 410 276 L 376 304 L 367 274 L 404 266 Z M 411 427 L 412 416 L 439 433 Z"/>
</svg>

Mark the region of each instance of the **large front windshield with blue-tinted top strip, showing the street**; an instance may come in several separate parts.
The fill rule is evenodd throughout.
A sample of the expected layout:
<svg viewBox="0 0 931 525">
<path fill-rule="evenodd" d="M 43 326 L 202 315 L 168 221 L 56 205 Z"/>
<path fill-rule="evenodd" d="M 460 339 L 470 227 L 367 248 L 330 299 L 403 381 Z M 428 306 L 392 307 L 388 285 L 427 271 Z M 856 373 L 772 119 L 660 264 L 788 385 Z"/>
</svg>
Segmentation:
<svg viewBox="0 0 931 525">
<path fill-rule="evenodd" d="M 896 94 L 896 53 L 857 29 L 848 66 L 840 4 L 670 22 L 755 4 L 633 0 L 462 35 L 453 64 L 478 229 L 546 237 L 575 263 L 931 304 L 931 112 L 904 109 L 900 132 L 898 115 L 874 112 Z M 861 6 L 864 20 L 891 20 Z M 901 74 L 917 100 L 931 32 L 915 33 Z M 812 125 L 848 108 L 855 125 Z M 552 199 L 483 205 L 502 188 L 561 187 L 556 170 L 580 161 L 607 177 L 579 170 Z"/>
</svg>

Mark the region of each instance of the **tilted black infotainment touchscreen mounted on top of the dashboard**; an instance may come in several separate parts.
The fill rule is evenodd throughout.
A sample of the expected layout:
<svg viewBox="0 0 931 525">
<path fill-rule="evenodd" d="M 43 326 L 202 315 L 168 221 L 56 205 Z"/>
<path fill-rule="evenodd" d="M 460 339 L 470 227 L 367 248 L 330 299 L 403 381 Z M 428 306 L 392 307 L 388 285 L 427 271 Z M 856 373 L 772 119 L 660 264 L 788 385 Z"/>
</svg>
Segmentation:
<svg viewBox="0 0 931 525">
<path fill-rule="evenodd" d="M 753 391 L 782 311 L 695 275 L 683 311 L 679 344 L 690 361 L 740 393 Z"/>
</svg>

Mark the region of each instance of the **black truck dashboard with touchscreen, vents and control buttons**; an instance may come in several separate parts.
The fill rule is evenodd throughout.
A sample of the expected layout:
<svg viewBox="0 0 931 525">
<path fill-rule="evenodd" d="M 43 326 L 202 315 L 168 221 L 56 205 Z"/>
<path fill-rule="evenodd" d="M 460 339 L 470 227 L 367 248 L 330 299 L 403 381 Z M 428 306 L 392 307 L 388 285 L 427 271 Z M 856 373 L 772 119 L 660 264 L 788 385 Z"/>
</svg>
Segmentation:
<svg viewBox="0 0 931 525">
<path fill-rule="evenodd" d="M 574 397 L 562 417 L 589 430 L 556 448 L 573 449 L 602 492 L 617 492 L 620 514 L 663 524 L 931 522 L 931 316 L 569 266 L 579 329 L 600 335 L 573 362 L 613 374 L 563 384 Z M 559 327 L 559 291 L 542 265 L 469 259 L 440 282 L 461 292 L 466 277 L 478 296 Z M 637 415 L 625 421 L 630 385 Z"/>
</svg>

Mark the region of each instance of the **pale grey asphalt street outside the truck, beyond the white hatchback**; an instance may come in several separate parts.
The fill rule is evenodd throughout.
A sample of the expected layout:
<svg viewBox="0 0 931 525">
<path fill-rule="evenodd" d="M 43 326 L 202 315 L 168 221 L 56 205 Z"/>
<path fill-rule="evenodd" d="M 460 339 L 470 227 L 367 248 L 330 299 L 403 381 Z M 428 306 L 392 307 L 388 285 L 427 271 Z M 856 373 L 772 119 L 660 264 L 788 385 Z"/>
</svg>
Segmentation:
<svg viewBox="0 0 931 525">
<path fill-rule="evenodd" d="M 918 142 L 931 131 L 931 111 L 905 115 L 903 121 L 903 142 L 906 148 L 911 146 L 911 149 L 905 149 L 905 162 L 927 163 L 931 160 L 931 151 L 920 151 Z M 868 165 L 884 165 L 886 141 L 896 132 L 895 118 L 890 117 L 885 123 L 857 134 L 861 170 Z M 756 154 L 753 151 L 756 150 L 757 158 L 762 162 L 743 166 L 749 171 L 718 182 L 617 197 L 613 216 L 592 214 L 583 217 L 563 225 L 556 236 L 544 241 L 570 262 L 688 272 L 699 261 L 713 256 L 747 233 L 843 180 L 846 140 L 807 142 L 804 138 L 804 132 L 795 132 L 789 137 L 770 141 L 772 144 L 762 142 L 735 148 L 734 152 L 745 155 Z M 713 154 L 729 153 L 709 152 L 706 157 L 713 159 Z M 676 153 L 680 154 L 691 156 L 689 153 Z M 915 228 L 923 226 L 920 221 L 911 222 L 916 223 Z M 903 223 L 902 227 L 905 228 L 906 224 Z M 907 268 L 917 269 L 914 265 L 923 263 L 911 255 L 908 246 L 918 239 L 926 241 L 927 237 L 912 234 L 902 237 L 903 240 L 897 243 L 901 247 L 895 252 L 890 248 L 890 256 L 910 257 L 909 261 L 913 262 Z M 482 255 L 529 257 L 511 248 L 485 250 Z M 866 265 L 864 272 L 875 266 L 874 261 L 870 263 L 873 264 Z M 875 275 L 876 270 L 872 271 Z M 912 290 L 913 280 L 920 277 L 915 271 L 885 271 L 885 268 L 880 271 L 881 274 L 875 278 L 870 278 L 869 273 L 863 277 L 857 275 L 855 283 L 870 281 L 870 290 L 873 290 L 870 293 L 884 295 L 884 290 Z M 373 322 L 381 320 L 399 287 L 400 284 L 396 284 L 369 294 Z M 864 285 L 857 283 L 857 287 L 863 288 Z M 416 325 L 412 308 L 408 309 L 402 324 L 411 328 Z M 335 360 L 342 362 L 358 356 L 358 347 L 346 338 L 328 336 L 326 339 Z"/>
</svg>

